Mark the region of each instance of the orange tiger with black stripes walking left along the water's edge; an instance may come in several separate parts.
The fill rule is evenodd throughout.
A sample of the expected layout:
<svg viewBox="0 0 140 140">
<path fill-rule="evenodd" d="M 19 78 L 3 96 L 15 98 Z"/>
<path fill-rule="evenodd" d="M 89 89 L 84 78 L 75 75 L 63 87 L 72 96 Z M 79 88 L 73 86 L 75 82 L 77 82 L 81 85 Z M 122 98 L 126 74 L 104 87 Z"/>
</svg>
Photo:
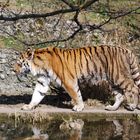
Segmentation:
<svg viewBox="0 0 140 140">
<path fill-rule="evenodd" d="M 111 86 L 114 104 L 107 105 L 105 110 L 115 111 L 124 101 L 127 110 L 139 109 L 139 64 L 137 57 L 127 48 L 107 45 L 28 48 L 20 54 L 14 71 L 17 75 L 31 72 L 37 77 L 31 101 L 21 108 L 23 110 L 37 107 L 49 90 L 51 81 L 55 81 L 75 102 L 72 110 L 82 111 L 81 79 L 93 85 L 106 81 Z"/>
</svg>

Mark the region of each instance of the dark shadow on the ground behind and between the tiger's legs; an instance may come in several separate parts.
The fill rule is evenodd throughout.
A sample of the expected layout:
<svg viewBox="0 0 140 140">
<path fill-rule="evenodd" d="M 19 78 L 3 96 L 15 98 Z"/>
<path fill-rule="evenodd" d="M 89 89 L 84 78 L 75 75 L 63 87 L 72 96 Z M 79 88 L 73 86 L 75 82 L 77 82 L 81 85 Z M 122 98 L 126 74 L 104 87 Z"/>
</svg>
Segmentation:
<svg viewBox="0 0 140 140">
<path fill-rule="evenodd" d="M 102 87 L 99 86 L 88 86 L 80 87 L 83 100 L 87 99 L 97 99 L 102 103 L 106 103 L 109 98 L 109 90 L 106 84 Z M 54 88 L 51 92 L 51 95 L 46 95 L 40 104 L 51 105 L 59 108 L 71 108 L 70 104 L 71 98 L 62 88 L 57 90 Z M 17 104 L 29 104 L 31 101 L 32 95 L 30 94 L 21 94 L 21 95 L 1 95 L 0 96 L 0 105 L 17 105 Z"/>
</svg>

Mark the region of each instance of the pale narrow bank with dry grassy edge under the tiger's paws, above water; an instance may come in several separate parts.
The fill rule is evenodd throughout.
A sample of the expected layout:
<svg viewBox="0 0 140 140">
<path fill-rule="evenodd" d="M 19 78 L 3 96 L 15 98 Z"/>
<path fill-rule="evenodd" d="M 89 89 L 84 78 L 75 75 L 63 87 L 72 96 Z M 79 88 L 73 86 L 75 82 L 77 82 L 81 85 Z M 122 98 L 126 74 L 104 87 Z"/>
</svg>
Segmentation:
<svg viewBox="0 0 140 140">
<path fill-rule="evenodd" d="M 140 119 L 140 111 L 127 111 L 120 108 L 117 111 L 106 111 L 102 108 L 85 108 L 82 112 L 73 112 L 69 108 L 57 108 L 52 106 L 41 105 L 32 111 L 22 111 L 18 106 L 2 106 L 0 107 L 0 116 L 14 119 L 17 122 L 43 123 L 51 120 L 62 120 L 63 118 L 88 119 L 95 120 L 101 118 L 138 118 Z"/>
</svg>

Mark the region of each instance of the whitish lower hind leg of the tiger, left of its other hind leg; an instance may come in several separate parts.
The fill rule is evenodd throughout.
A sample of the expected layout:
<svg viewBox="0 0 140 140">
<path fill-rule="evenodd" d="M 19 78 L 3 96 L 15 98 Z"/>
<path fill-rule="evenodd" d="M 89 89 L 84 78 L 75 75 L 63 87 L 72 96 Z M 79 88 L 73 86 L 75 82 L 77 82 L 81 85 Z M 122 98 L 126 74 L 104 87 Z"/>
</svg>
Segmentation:
<svg viewBox="0 0 140 140">
<path fill-rule="evenodd" d="M 119 108 L 121 103 L 124 101 L 124 96 L 118 91 L 114 91 L 113 94 L 115 95 L 115 103 L 113 105 L 107 105 L 105 107 L 105 110 L 115 111 Z"/>
</svg>

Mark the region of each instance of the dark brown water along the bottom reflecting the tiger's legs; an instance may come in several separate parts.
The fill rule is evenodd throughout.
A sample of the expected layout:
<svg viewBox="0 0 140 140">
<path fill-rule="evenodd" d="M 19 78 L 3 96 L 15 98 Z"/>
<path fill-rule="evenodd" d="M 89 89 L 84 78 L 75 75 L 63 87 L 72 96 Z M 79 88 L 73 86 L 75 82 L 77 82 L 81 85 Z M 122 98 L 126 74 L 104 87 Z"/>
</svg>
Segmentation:
<svg viewBox="0 0 140 140">
<path fill-rule="evenodd" d="M 0 120 L 0 140 L 140 140 L 140 120 L 56 120 L 43 124 L 18 124 Z"/>
</svg>

